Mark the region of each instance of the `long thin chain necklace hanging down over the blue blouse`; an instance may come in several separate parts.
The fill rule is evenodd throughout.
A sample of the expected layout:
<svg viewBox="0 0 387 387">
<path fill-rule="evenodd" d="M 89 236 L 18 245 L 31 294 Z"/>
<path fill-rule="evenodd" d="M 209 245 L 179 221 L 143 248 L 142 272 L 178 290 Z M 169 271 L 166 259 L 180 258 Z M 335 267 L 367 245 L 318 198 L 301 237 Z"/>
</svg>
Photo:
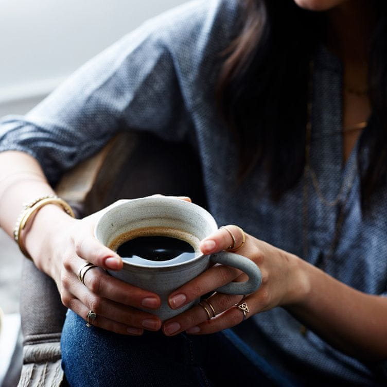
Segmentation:
<svg viewBox="0 0 387 387">
<path fill-rule="evenodd" d="M 311 69 L 313 65 L 311 64 Z M 312 71 L 310 72 L 310 79 L 312 76 Z M 309 243 L 308 243 L 308 221 L 309 221 L 309 185 L 308 180 L 310 178 L 313 188 L 316 192 L 316 195 L 320 201 L 327 207 L 336 207 L 339 205 L 339 213 L 337 221 L 335 224 L 335 231 L 333 232 L 333 238 L 331 245 L 328 250 L 328 258 L 331 257 L 341 235 L 341 228 L 344 222 L 344 212 L 345 205 L 348 201 L 349 193 L 354 185 L 356 175 L 358 172 L 357 162 L 354 160 L 349 160 L 352 164 L 349 171 L 346 172 L 344 180 L 341 184 L 339 192 L 335 199 L 328 200 L 322 192 L 322 189 L 319 184 L 318 177 L 310 164 L 310 148 L 311 148 L 311 133 L 312 133 L 312 82 L 309 82 L 308 87 L 308 105 L 307 105 L 307 124 L 306 124 L 306 138 L 305 138 L 305 168 L 304 168 L 304 188 L 303 188 L 303 251 L 304 259 L 307 259 L 309 252 Z M 366 125 L 365 125 L 366 126 Z M 364 127 L 365 127 L 364 126 Z"/>
</svg>

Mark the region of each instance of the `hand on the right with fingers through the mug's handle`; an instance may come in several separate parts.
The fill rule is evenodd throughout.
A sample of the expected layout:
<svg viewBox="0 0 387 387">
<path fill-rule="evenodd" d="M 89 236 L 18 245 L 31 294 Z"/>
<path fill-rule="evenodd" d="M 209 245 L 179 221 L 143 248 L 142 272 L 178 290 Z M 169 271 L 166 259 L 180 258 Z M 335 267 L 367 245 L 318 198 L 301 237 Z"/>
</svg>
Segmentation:
<svg viewBox="0 0 387 387">
<path fill-rule="evenodd" d="M 240 228 L 235 225 L 226 227 L 234 235 L 235 245 L 239 246 L 243 239 Z M 231 234 L 225 228 L 220 228 L 201 241 L 200 249 L 204 254 L 213 254 L 227 250 L 233 244 Z M 309 284 L 302 269 L 303 265 L 300 265 L 304 261 L 295 255 L 249 234 L 245 234 L 245 243 L 237 253 L 250 258 L 258 265 L 262 274 L 259 289 L 248 295 L 214 293 L 207 298 L 207 302 L 202 302 L 203 306 L 192 307 L 166 321 L 163 324 L 165 335 L 173 336 L 182 331 L 196 334 L 214 333 L 233 327 L 255 313 L 276 306 L 296 304 L 307 294 Z M 172 309 L 177 309 L 231 281 L 241 282 L 246 279 L 247 275 L 235 268 L 214 265 L 170 294 L 168 302 Z M 247 304 L 249 312 L 243 312 L 236 307 L 242 300 Z"/>
</svg>

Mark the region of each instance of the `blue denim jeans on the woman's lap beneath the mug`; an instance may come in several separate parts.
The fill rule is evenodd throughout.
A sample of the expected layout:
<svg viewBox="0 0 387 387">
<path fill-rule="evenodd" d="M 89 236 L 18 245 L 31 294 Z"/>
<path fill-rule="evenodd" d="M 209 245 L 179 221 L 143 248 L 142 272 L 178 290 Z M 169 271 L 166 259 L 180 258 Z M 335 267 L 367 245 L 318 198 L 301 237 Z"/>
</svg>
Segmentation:
<svg viewBox="0 0 387 387">
<path fill-rule="evenodd" d="M 61 345 L 62 367 L 72 387 L 292 385 L 265 360 L 262 367 L 250 361 L 222 332 L 123 336 L 87 328 L 68 311 Z"/>
</svg>

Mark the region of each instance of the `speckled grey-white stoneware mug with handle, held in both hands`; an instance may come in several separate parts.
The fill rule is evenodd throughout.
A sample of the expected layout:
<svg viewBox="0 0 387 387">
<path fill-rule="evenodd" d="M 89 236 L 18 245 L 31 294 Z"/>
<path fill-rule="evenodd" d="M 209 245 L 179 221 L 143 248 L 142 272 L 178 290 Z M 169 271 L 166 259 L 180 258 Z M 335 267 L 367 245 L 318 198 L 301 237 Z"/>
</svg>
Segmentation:
<svg viewBox="0 0 387 387">
<path fill-rule="evenodd" d="M 161 237 L 162 241 L 171 239 L 188 243 L 191 249 L 189 254 L 172 256 L 170 259 L 148 259 L 146 253 L 145 256 L 135 253 L 126 257 L 120 254 L 124 267 L 120 271 L 109 271 L 116 278 L 158 294 L 161 307 L 143 310 L 156 314 L 164 321 L 199 302 L 195 300 L 179 309 L 171 309 L 167 299 L 170 293 L 204 272 L 211 263 L 233 266 L 249 276 L 245 282 L 231 282 L 216 291 L 250 294 L 258 289 L 261 273 L 250 259 L 226 251 L 211 255 L 201 253 L 200 241 L 217 230 L 215 219 L 204 208 L 177 198 L 151 196 L 113 203 L 98 219 L 95 237 L 119 254 L 120 247 L 127 243 L 137 243 L 139 240 L 143 240 L 141 243 L 144 240 L 157 243 L 157 238 L 153 237 Z M 140 249 L 144 250 L 144 246 Z"/>
</svg>

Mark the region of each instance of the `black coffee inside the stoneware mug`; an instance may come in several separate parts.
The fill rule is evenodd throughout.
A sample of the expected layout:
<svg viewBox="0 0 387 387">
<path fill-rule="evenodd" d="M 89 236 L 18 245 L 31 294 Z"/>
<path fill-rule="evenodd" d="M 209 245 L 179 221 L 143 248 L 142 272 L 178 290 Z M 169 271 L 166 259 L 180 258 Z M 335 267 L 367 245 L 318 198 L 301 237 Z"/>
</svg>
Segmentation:
<svg viewBox="0 0 387 387">
<path fill-rule="evenodd" d="M 166 261 L 179 258 L 179 261 L 186 261 L 195 257 L 195 250 L 184 240 L 147 236 L 137 237 L 122 243 L 117 249 L 117 254 L 122 258 L 143 258 L 151 261 Z"/>
</svg>

